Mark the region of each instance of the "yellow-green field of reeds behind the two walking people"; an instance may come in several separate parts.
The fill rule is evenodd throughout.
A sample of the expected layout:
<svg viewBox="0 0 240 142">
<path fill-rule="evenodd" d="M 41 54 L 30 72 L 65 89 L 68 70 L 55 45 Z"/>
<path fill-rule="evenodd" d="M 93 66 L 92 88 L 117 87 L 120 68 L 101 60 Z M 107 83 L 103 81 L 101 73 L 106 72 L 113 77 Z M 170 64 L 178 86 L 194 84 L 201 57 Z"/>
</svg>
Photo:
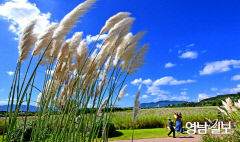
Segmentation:
<svg viewBox="0 0 240 142">
<path fill-rule="evenodd" d="M 207 119 L 217 119 L 217 107 L 183 107 L 183 108 L 153 108 L 140 110 L 140 116 L 135 122 L 135 128 L 166 128 L 168 117 L 174 119 L 176 112 L 182 112 L 183 124 L 186 122 L 204 123 Z M 115 112 L 111 119 L 116 129 L 130 129 L 132 127 L 132 111 Z"/>
</svg>

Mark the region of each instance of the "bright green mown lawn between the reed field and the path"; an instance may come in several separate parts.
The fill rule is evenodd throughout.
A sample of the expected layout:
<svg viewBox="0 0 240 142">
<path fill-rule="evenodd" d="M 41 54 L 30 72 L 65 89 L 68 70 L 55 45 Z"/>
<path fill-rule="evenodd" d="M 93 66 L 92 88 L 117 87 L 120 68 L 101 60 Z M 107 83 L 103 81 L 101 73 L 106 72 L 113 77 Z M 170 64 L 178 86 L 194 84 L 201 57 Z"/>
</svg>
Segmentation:
<svg viewBox="0 0 240 142">
<path fill-rule="evenodd" d="M 132 130 L 117 130 L 117 132 L 121 135 L 118 137 L 109 138 L 108 140 L 113 141 L 113 140 L 132 139 Z M 168 132 L 169 130 L 166 128 L 135 129 L 133 138 L 134 139 L 163 138 L 163 137 L 168 137 L 167 136 Z"/>
</svg>

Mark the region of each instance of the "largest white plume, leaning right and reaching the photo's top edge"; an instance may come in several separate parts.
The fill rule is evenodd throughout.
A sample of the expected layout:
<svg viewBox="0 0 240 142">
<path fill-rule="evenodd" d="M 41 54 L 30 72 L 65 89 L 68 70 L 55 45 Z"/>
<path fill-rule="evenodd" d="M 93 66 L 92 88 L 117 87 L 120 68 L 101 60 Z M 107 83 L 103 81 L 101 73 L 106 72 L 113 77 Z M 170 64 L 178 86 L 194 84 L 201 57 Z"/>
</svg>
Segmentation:
<svg viewBox="0 0 240 142">
<path fill-rule="evenodd" d="M 61 20 L 58 28 L 53 34 L 55 40 L 62 40 L 69 33 L 69 31 L 74 27 L 74 24 L 78 22 L 78 18 L 83 16 L 87 10 L 96 2 L 96 0 L 86 0 L 85 2 L 79 4 L 71 12 L 64 16 Z"/>
</svg>

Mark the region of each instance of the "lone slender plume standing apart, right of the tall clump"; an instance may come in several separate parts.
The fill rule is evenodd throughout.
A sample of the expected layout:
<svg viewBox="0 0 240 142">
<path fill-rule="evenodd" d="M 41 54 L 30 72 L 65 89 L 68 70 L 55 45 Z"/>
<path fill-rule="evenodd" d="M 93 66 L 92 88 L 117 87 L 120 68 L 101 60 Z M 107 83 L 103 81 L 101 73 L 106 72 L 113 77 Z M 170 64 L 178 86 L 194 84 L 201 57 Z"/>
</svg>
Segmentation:
<svg viewBox="0 0 240 142">
<path fill-rule="evenodd" d="M 141 93 L 142 84 L 138 87 L 138 92 L 135 97 L 134 108 L 133 108 L 133 123 L 135 123 L 140 115 L 140 102 L 138 101 Z"/>
</svg>

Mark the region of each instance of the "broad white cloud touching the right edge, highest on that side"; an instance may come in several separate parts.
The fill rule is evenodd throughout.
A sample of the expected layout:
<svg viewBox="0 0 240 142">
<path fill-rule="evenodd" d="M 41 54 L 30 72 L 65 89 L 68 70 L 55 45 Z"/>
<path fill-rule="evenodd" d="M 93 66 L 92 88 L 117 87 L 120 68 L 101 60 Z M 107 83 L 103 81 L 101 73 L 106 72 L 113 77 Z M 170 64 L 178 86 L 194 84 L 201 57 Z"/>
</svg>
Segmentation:
<svg viewBox="0 0 240 142">
<path fill-rule="evenodd" d="M 200 71 L 200 75 L 209 75 L 213 73 L 220 73 L 230 71 L 231 68 L 239 68 L 240 60 L 223 60 L 207 63 L 206 66 Z"/>
</svg>

